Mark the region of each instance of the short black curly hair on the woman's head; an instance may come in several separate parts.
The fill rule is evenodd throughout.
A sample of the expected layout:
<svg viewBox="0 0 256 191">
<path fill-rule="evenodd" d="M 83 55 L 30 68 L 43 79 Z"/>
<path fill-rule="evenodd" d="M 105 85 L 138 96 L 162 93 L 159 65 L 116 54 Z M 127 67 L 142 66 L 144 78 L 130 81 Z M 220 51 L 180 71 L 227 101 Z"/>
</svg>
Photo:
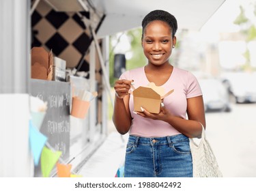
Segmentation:
<svg viewBox="0 0 256 191">
<path fill-rule="evenodd" d="M 173 16 L 172 14 L 170 14 L 169 12 L 166 12 L 164 10 L 154 10 L 154 11 L 150 12 L 149 14 L 147 14 L 142 20 L 142 23 L 141 23 L 142 38 L 143 38 L 143 33 L 145 30 L 145 27 L 147 27 L 147 24 L 149 24 L 150 22 L 152 22 L 154 20 L 162 20 L 163 22 L 167 23 L 171 28 L 172 37 L 174 37 L 174 35 L 177 31 L 177 20 L 176 20 L 175 16 Z"/>
</svg>

